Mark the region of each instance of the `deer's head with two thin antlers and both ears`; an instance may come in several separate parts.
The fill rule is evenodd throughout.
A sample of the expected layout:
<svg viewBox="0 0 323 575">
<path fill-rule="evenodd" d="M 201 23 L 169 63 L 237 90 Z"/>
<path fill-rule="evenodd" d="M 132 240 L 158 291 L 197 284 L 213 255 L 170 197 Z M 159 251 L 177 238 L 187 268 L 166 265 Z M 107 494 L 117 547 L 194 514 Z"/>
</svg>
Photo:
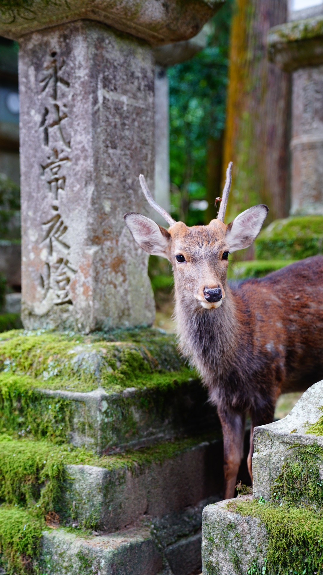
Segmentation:
<svg viewBox="0 0 323 575">
<path fill-rule="evenodd" d="M 253 206 L 225 225 L 225 209 L 231 185 L 232 162 L 226 170 L 226 182 L 218 218 L 209 225 L 188 227 L 176 222 L 153 200 L 145 178 L 140 184 L 149 204 L 170 224 L 161 227 L 137 213 L 125 214 L 125 222 L 134 240 L 148 254 L 167 258 L 174 270 L 176 298 L 187 304 L 214 309 L 225 298 L 228 255 L 249 247 L 260 232 L 268 213 L 265 205 Z"/>
</svg>

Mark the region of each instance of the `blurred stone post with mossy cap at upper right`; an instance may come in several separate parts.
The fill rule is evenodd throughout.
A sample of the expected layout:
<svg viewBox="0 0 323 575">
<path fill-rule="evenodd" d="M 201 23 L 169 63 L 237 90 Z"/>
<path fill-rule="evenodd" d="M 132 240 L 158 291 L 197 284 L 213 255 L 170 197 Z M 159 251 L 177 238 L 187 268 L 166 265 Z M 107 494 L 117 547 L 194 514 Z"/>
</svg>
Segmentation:
<svg viewBox="0 0 323 575">
<path fill-rule="evenodd" d="M 316 9 L 317 11 L 317 9 Z M 323 215 L 323 16 L 275 26 L 271 62 L 292 74 L 291 215 Z"/>
</svg>

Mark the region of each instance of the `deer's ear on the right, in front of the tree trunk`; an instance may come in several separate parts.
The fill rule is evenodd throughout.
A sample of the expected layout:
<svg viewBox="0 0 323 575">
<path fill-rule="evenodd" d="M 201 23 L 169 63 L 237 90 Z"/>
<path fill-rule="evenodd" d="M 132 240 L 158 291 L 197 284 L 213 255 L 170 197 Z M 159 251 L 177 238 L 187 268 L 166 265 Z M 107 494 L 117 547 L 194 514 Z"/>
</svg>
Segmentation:
<svg viewBox="0 0 323 575">
<path fill-rule="evenodd" d="M 268 211 L 267 206 L 263 204 L 252 206 L 228 225 L 225 239 L 231 252 L 251 246 L 262 229 Z"/>
</svg>

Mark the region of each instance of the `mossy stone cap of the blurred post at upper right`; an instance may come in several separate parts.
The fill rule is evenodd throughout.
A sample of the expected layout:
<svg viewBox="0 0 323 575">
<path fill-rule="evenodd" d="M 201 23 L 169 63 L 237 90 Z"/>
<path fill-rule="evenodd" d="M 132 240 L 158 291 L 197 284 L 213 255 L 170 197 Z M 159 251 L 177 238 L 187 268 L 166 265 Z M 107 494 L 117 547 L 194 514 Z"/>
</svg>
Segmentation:
<svg viewBox="0 0 323 575">
<path fill-rule="evenodd" d="M 270 29 L 268 56 L 287 72 L 323 63 L 323 16 L 287 22 Z"/>
</svg>

